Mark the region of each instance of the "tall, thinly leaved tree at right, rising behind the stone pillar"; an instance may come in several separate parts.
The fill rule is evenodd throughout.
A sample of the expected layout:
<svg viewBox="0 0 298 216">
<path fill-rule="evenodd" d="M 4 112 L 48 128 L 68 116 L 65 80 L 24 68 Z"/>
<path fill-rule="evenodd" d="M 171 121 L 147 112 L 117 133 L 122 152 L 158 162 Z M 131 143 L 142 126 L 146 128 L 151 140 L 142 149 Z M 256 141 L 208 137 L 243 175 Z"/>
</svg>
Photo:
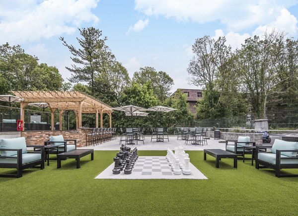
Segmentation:
<svg viewBox="0 0 298 216">
<path fill-rule="evenodd" d="M 249 93 L 257 118 L 266 118 L 268 96 L 278 92 L 278 85 L 291 77 L 280 76 L 283 73 L 280 65 L 284 56 L 284 36 L 283 32 L 266 32 L 262 40 L 257 36 L 246 39 L 238 51 L 237 65 L 243 79 L 243 91 Z"/>
</svg>

